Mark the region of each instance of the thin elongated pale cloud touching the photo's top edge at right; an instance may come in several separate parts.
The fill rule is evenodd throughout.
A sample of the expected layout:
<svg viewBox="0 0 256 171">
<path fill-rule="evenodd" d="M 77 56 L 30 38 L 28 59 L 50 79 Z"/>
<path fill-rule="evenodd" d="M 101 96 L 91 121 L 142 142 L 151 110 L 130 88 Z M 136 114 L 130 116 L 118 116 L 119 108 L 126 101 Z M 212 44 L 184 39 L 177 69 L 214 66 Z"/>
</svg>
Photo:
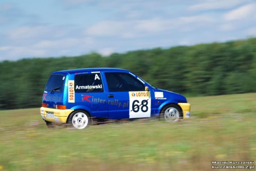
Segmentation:
<svg viewBox="0 0 256 171">
<path fill-rule="evenodd" d="M 222 1 L 210 1 L 202 4 L 191 5 L 188 7 L 191 11 L 206 11 L 206 10 L 218 10 L 218 9 L 229 9 L 236 7 L 242 3 L 247 2 L 246 0 L 222 0 Z"/>
</svg>

